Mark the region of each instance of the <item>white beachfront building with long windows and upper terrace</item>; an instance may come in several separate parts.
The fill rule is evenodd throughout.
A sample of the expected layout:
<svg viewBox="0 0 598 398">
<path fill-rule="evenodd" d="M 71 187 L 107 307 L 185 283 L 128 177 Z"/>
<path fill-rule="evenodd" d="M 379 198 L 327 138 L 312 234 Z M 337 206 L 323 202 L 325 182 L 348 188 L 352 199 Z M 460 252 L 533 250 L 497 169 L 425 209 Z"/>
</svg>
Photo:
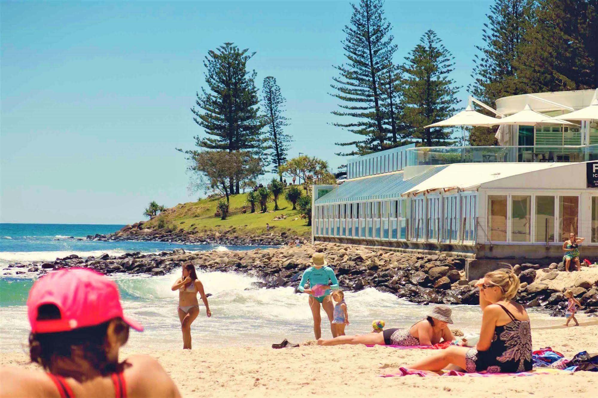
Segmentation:
<svg viewBox="0 0 598 398">
<path fill-rule="evenodd" d="M 497 111 L 509 115 L 530 105 L 560 115 L 590 105 L 593 94 L 506 97 L 497 101 Z M 345 182 L 313 189 L 313 240 L 477 258 L 557 259 L 575 232 L 585 238 L 582 259 L 594 260 L 596 125 L 509 126 L 507 134 L 508 146 L 410 145 L 353 158 Z"/>
</svg>

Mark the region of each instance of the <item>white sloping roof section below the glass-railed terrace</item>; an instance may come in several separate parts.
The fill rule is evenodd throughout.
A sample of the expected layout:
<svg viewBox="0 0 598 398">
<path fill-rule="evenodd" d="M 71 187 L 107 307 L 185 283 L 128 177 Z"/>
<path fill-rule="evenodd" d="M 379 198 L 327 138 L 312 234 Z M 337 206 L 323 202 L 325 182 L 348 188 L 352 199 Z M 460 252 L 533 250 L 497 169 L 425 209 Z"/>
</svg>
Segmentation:
<svg viewBox="0 0 598 398">
<path fill-rule="evenodd" d="M 455 163 L 445 166 L 442 170 L 422 180 L 417 185 L 403 192 L 419 194 L 438 189 L 472 191 L 484 183 L 515 176 L 537 172 L 539 170 L 556 169 L 569 163 Z M 418 176 L 419 177 L 419 176 Z M 518 188 L 518 187 L 513 187 Z M 523 188 L 523 187 L 522 187 Z"/>
</svg>

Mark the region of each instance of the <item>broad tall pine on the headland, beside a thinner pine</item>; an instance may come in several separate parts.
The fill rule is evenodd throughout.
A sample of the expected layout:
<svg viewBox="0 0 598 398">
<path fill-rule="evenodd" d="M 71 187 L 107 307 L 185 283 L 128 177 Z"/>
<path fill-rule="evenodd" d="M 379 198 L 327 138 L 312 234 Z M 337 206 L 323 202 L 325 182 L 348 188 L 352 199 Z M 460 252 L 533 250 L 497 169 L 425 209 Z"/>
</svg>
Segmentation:
<svg viewBox="0 0 598 398">
<path fill-rule="evenodd" d="M 255 53 L 239 50 L 233 43 L 224 43 L 216 51 L 210 50 L 203 65 L 206 68 L 206 85 L 197 93 L 192 108 L 193 120 L 203 128 L 208 137 L 196 136 L 197 148 L 221 151 L 248 151 L 259 155 L 263 146 L 258 90 L 255 71 L 248 72 L 247 62 Z M 194 161 L 197 150 L 182 151 Z M 228 191 L 239 193 L 240 181 L 230 175 Z"/>
</svg>

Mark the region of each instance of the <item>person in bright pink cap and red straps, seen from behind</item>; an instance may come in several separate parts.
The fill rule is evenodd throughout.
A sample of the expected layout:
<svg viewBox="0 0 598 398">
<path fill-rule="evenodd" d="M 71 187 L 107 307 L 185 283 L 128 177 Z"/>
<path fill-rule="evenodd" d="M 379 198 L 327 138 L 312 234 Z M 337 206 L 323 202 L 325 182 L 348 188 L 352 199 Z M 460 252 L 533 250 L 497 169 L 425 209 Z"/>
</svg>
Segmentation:
<svg viewBox="0 0 598 398">
<path fill-rule="evenodd" d="M 118 287 L 84 268 L 47 274 L 29 292 L 29 357 L 47 373 L 0 369 L 6 397 L 179 397 L 157 360 L 135 355 L 119 362 L 129 327 Z"/>
</svg>

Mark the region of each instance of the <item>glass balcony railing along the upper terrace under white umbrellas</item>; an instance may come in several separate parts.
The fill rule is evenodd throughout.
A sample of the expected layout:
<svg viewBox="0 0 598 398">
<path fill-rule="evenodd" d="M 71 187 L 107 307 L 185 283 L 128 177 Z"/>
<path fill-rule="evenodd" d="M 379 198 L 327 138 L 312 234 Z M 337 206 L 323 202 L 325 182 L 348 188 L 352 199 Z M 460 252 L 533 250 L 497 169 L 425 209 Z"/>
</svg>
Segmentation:
<svg viewBox="0 0 598 398">
<path fill-rule="evenodd" d="M 406 152 L 407 166 L 598 160 L 598 144 L 583 146 L 422 146 L 409 148 Z"/>
</svg>

